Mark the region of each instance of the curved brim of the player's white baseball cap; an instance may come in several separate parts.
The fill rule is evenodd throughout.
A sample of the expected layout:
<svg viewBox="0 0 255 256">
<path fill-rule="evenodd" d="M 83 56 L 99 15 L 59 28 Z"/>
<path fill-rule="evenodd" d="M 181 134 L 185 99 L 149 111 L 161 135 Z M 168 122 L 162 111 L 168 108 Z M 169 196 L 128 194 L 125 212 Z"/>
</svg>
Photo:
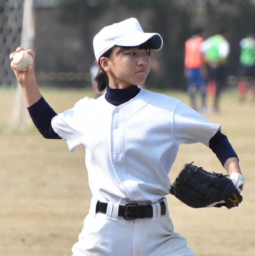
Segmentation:
<svg viewBox="0 0 255 256">
<path fill-rule="evenodd" d="M 160 50 L 163 46 L 163 39 L 157 33 L 143 33 L 137 31 L 132 33 L 127 38 L 123 39 L 122 41 L 116 43 L 119 46 L 137 46 L 141 45 L 145 42 L 148 42 L 149 48 L 151 50 Z"/>
</svg>

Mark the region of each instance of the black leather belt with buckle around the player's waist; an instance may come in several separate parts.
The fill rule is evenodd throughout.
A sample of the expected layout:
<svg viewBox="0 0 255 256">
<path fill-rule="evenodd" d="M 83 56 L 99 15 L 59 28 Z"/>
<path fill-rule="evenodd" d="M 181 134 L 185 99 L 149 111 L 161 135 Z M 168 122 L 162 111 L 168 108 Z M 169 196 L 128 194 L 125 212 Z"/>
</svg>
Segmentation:
<svg viewBox="0 0 255 256">
<path fill-rule="evenodd" d="M 165 215 L 166 207 L 163 201 L 159 202 L 161 207 L 161 215 Z M 106 213 L 108 203 L 97 202 L 96 212 Z M 136 203 L 128 203 L 119 205 L 118 216 L 126 220 L 144 219 L 153 217 L 153 209 L 151 205 L 138 205 Z"/>
</svg>

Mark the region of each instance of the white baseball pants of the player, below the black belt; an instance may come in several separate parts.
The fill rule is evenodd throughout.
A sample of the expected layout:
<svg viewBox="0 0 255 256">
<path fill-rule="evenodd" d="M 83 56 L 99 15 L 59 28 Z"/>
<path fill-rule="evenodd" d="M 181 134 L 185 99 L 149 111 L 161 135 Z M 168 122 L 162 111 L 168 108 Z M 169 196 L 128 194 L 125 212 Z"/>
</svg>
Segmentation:
<svg viewBox="0 0 255 256">
<path fill-rule="evenodd" d="M 110 214 L 95 214 L 95 205 L 84 220 L 73 256 L 195 256 L 187 241 L 174 233 L 166 198 L 166 214 L 125 220 Z"/>
</svg>

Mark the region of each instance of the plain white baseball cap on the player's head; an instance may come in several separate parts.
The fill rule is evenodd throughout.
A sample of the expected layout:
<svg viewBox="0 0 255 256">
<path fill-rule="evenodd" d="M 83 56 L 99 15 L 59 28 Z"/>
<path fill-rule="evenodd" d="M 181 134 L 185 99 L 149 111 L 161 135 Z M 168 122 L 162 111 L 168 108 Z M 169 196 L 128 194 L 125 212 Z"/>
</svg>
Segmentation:
<svg viewBox="0 0 255 256">
<path fill-rule="evenodd" d="M 157 33 L 144 33 L 139 22 L 130 18 L 119 23 L 106 26 L 93 39 L 94 53 L 97 60 L 114 45 L 137 46 L 149 43 L 151 50 L 160 50 L 162 37 Z"/>
</svg>

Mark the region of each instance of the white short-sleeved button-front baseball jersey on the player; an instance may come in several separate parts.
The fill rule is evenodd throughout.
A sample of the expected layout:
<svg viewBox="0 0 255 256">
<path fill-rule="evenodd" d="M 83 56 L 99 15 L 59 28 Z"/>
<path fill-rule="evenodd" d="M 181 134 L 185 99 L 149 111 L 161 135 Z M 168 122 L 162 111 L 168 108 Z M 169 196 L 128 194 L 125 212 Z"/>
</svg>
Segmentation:
<svg viewBox="0 0 255 256">
<path fill-rule="evenodd" d="M 52 119 L 71 152 L 83 145 L 92 196 L 101 202 L 157 202 L 181 143 L 209 140 L 220 128 L 179 100 L 141 89 L 119 106 L 85 97 Z"/>
</svg>

